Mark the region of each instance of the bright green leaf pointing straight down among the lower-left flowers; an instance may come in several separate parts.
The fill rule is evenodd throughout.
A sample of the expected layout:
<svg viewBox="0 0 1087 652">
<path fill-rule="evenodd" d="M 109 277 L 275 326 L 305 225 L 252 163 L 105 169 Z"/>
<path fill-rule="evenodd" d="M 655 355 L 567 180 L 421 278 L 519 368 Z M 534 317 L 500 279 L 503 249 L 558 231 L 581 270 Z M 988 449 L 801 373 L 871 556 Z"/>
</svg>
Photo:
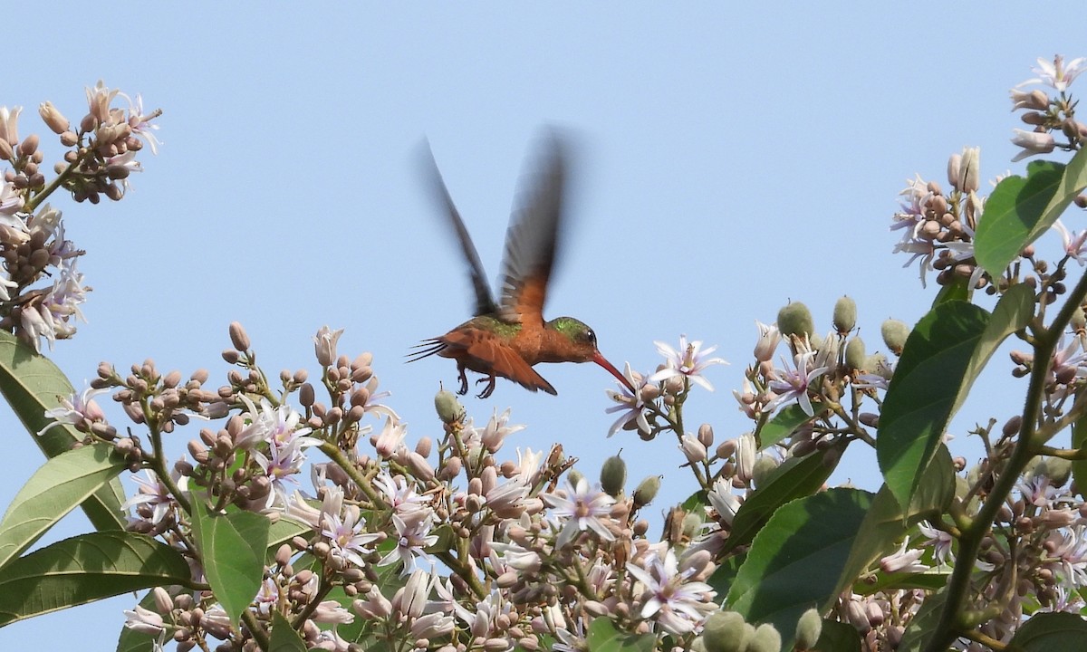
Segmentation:
<svg viewBox="0 0 1087 652">
<path fill-rule="evenodd" d="M 209 514 L 198 504 L 192 509 L 192 528 L 208 584 L 236 625 L 260 590 L 271 523 L 253 512 Z"/>
</svg>

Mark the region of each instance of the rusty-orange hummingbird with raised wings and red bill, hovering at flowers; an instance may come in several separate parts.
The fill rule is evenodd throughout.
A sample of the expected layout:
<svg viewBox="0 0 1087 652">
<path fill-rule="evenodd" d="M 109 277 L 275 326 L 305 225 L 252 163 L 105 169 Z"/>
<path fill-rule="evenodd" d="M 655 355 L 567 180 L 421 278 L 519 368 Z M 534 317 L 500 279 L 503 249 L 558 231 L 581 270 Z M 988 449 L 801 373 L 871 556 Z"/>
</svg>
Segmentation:
<svg viewBox="0 0 1087 652">
<path fill-rule="evenodd" d="M 409 354 L 408 362 L 435 354 L 455 360 L 461 381 L 458 393 L 467 393 L 465 369 L 472 369 L 484 375 L 477 384 L 487 384 L 478 394 L 480 399 L 495 391 L 498 376 L 530 391 L 542 389 L 549 394 L 558 394 L 533 368 L 541 362 L 592 361 L 634 391 L 630 381 L 601 355 L 591 328 L 574 317 L 544 321 L 544 303 L 562 227 L 569 155 L 554 133 L 547 135 L 541 149 L 540 170 L 527 185 L 527 191 L 518 193 L 510 216 L 496 302 L 487 286 L 479 254 L 441 178 L 434 154 L 427 148 L 429 155 L 425 163 L 430 185 L 467 262 L 475 291 L 475 316 L 446 335 L 423 340 L 414 347 L 418 350 Z"/>
</svg>

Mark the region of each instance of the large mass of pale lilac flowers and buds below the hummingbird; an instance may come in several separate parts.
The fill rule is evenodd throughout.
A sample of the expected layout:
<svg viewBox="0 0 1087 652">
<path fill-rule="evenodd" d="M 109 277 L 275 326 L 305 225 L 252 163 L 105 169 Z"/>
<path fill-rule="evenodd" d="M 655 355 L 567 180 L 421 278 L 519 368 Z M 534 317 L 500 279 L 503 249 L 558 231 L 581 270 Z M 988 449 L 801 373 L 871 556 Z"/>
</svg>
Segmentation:
<svg viewBox="0 0 1087 652">
<path fill-rule="evenodd" d="M 203 570 L 192 510 L 259 512 L 298 532 L 267 565 L 242 629 L 230 627 L 211 590 L 160 589 L 126 612 L 133 632 L 172 637 L 180 650 L 214 640 L 245 648 L 278 611 L 300 624 L 311 648 L 407 640 L 448 651 L 575 650 L 603 618 L 687 647 L 717 611 L 721 597 L 707 580 L 742 499 L 721 473 L 735 464 L 722 462 L 712 475 L 713 509 L 651 543 L 640 511 L 660 479 L 629 490 L 619 456 L 604 465 L 599 484 L 573 467 L 561 447 L 517 449 L 502 460 L 505 442 L 524 426 L 510 423 L 510 411 L 476 426 L 447 391 L 436 399 L 441 437 L 410 446 L 405 424 L 378 402 L 388 394 L 377 391 L 372 358 L 337 353 L 340 331 L 322 328 L 314 338 L 320 381 L 285 371 L 277 388 L 257 365 L 245 329 L 232 324 L 229 334 L 233 347 L 223 358 L 237 368 L 217 389 L 207 386 L 204 371 L 186 380 L 150 360 L 127 375 L 103 363 L 89 390 L 50 411 L 87 442 L 112 442 L 130 468 L 142 469 L 124 505 L 133 512 L 129 529 L 188 557 L 193 581 Z M 691 386 L 709 385 L 704 368 L 723 361 L 686 338 L 678 350 L 658 348 L 665 362 L 636 386 L 658 388 L 649 414 L 662 431 L 682 419 L 678 408 Z M 117 435 L 93 400 L 104 391 L 146 436 Z M 215 419 L 221 427 L 208 425 Z M 383 425 L 375 429 L 367 419 Z M 204 427 L 189 441 L 188 457 L 171 464 L 161 440 L 190 423 Z M 688 457 L 699 447 L 704 457 L 713 446 L 708 426 L 697 437 L 678 434 Z M 313 456 L 318 451 L 323 461 Z"/>
</svg>

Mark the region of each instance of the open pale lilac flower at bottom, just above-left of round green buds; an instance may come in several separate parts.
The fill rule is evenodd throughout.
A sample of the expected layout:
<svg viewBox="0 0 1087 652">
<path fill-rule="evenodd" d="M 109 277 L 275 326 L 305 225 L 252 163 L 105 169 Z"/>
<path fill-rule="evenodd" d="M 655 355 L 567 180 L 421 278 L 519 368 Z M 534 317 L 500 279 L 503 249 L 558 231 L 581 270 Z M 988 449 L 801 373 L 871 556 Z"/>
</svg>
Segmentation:
<svg viewBox="0 0 1087 652">
<path fill-rule="evenodd" d="M 713 602 L 716 591 L 705 582 L 688 581 L 694 568 L 680 572 L 671 548 L 663 560 L 651 552 L 641 567 L 627 564 L 626 570 L 642 586 L 641 617 L 655 617 L 670 634 L 690 634 L 717 609 Z"/>
</svg>

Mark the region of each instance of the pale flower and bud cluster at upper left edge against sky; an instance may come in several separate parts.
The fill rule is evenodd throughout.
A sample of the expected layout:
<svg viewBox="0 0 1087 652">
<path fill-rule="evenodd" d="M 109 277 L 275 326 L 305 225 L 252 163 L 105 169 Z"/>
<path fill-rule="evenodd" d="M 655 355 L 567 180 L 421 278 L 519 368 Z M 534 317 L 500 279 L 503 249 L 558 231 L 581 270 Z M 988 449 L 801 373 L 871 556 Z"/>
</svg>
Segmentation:
<svg viewBox="0 0 1087 652">
<path fill-rule="evenodd" d="M 114 106 L 117 99 L 127 108 Z M 158 125 L 151 121 L 161 112 L 145 112 L 139 96 L 134 101 L 99 82 L 87 89 L 87 105 L 76 127 L 52 102 L 39 106 L 41 120 L 66 149 L 51 179 L 41 167 L 38 135 L 18 137 L 22 106 L 0 106 L 0 160 L 11 166 L 0 180 L 0 328 L 35 348 L 42 339 L 52 347 L 75 334 L 75 321 L 83 318 L 79 305 L 90 290 L 76 268 L 84 252 L 65 239 L 60 210 L 42 202 L 59 188 L 79 202 L 98 203 L 102 196 L 120 200 L 128 175 L 141 170 L 137 152 L 145 142 L 152 152 L 158 146 Z M 49 284 L 35 287 L 42 279 Z"/>
</svg>

